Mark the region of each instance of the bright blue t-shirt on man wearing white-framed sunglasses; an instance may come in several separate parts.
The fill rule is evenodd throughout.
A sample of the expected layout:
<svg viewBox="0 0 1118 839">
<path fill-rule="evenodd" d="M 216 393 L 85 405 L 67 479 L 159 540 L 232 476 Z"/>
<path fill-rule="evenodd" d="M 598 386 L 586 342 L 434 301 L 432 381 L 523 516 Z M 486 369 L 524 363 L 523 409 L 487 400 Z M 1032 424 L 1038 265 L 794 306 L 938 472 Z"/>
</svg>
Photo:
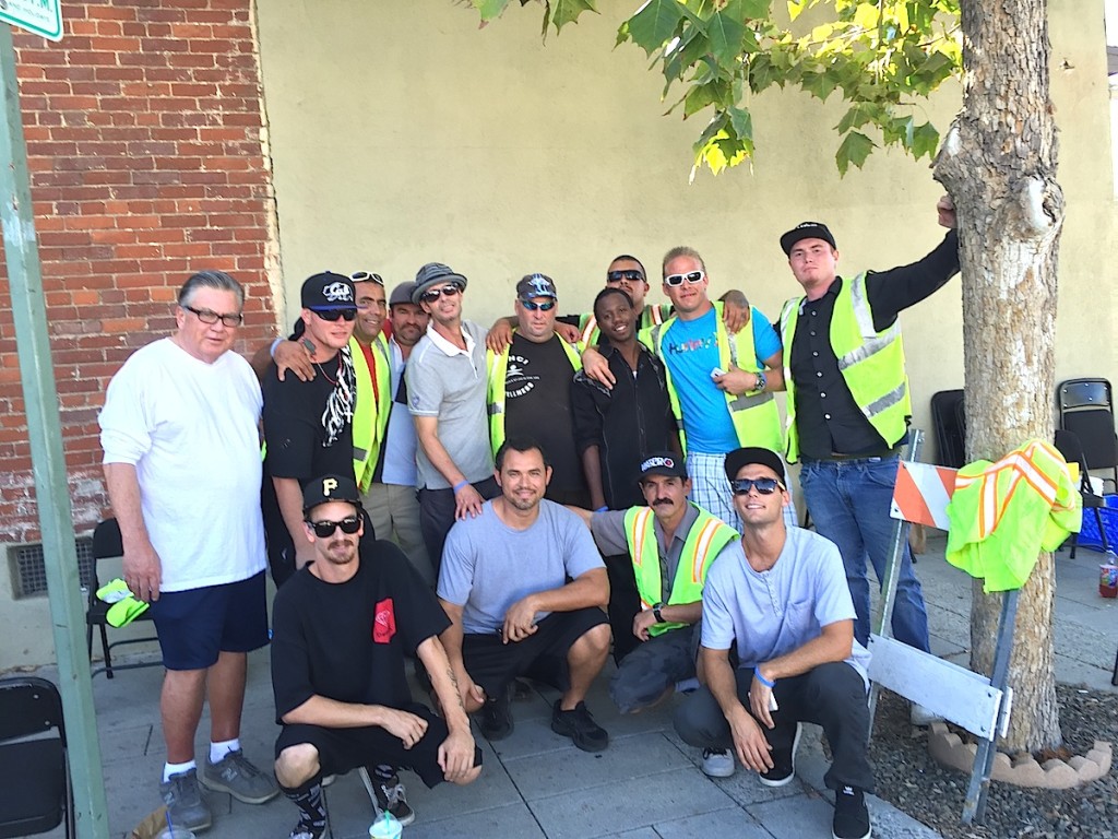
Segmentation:
<svg viewBox="0 0 1118 839">
<path fill-rule="evenodd" d="M 750 307 L 749 323 L 754 331 L 757 365 L 780 350 L 780 338 L 773 323 L 756 307 Z M 726 394 L 719 390 L 710 373 L 720 367 L 718 360 L 718 311 L 711 309 L 695 320 L 680 320 L 664 333 L 663 358 L 672 374 L 672 384 L 680 397 L 683 433 L 688 451 L 726 454 L 738 447 L 738 435 L 726 405 Z"/>
</svg>

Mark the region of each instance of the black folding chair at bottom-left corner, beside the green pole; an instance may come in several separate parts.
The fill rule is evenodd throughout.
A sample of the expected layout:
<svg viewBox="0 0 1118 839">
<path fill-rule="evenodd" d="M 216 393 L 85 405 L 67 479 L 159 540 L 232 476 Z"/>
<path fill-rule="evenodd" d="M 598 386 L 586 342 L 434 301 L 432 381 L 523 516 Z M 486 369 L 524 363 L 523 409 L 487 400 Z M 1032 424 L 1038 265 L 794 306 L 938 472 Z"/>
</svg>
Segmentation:
<svg viewBox="0 0 1118 839">
<path fill-rule="evenodd" d="M 63 821 L 66 839 L 75 836 L 63 700 L 46 679 L 0 679 L 0 837 L 46 833 Z"/>
</svg>

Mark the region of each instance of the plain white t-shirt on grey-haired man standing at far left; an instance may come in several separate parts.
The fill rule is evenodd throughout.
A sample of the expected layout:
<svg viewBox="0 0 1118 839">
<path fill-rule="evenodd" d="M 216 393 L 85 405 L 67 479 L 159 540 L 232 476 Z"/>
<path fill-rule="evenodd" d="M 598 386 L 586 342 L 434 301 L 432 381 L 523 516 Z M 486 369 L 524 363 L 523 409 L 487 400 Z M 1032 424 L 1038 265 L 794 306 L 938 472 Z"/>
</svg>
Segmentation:
<svg viewBox="0 0 1118 839">
<path fill-rule="evenodd" d="M 246 579 L 265 567 L 260 386 L 236 352 L 214 364 L 170 338 L 136 350 L 108 383 L 105 463 L 131 463 L 160 591 Z"/>
</svg>

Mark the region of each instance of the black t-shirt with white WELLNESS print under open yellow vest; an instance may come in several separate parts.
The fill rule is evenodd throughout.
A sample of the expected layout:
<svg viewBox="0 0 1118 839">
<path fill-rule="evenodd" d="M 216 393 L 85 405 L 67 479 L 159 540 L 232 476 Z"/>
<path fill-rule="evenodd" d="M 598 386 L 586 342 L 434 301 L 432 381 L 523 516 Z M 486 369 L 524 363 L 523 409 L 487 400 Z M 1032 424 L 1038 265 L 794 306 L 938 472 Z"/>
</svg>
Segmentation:
<svg viewBox="0 0 1118 839">
<path fill-rule="evenodd" d="M 520 334 L 513 336 L 504 380 L 504 434 L 531 437 L 543 446 L 552 469 L 549 493 L 585 493 L 570 412 L 575 369 L 561 340 L 552 337 L 534 343 Z"/>
</svg>

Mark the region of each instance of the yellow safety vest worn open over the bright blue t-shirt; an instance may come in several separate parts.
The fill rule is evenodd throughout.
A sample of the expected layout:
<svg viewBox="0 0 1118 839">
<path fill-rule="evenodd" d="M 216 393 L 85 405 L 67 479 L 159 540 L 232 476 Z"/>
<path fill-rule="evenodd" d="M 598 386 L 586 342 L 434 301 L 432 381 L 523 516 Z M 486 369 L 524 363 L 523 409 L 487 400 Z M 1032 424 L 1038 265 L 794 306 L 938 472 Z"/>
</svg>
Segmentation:
<svg viewBox="0 0 1118 839">
<path fill-rule="evenodd" d="M 751 314 L 757 313 L 756 307 L 750 307 Z M 726 329 L 726 321 L 722 320 L 722 302 L 714 303 L 714 314 L 718 322 L 718 365 L 723 370 L 729 370 L 735 366 L 740 370 L 749 373 L 761 373 L 762 368 L 757 364 L 757 350 L 754 347 L 754 330 L 747 324 L 731 336 Z M 680 444 L 686 453 L 688 440 L 683 431 L 683 411 L 680 407 L 680 397 L 672 383 L 672 370 L 664 357 L 663 343 L 667 330 L 675 323 L 675 318 L 669 318 L 662 324 L 641 330 L 641 342 L 648 347 L 664 361 L 664 375 L 667 380 L 667 399 L 672 405 L 672 413 L 675 422 L 680 426 Z M 787 362 L 786 362 L 787 364 Z M 784 447 L 784 434 L 780 432 L 780 412 L 777 409 L 776 399 L 769 390 L 759 394 L 742 394 L 735 396 L 726 393 L 726 407 L 730 412 L 730 420 L 733 422 L 733 431 L 738 436 L 738 445 L 758 445 L 778 452 Z"/>
</svg>

